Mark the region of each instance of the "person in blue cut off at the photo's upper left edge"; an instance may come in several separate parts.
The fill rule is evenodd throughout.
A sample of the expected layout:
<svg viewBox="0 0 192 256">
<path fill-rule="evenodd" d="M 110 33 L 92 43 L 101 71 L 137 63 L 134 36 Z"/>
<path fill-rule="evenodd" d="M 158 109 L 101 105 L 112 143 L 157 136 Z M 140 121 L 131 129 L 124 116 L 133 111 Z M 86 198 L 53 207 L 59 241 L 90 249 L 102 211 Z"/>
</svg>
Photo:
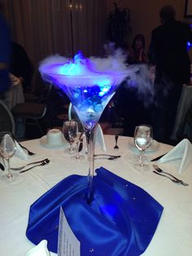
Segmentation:
<svg viewBox="0 0 192 256">
<path fill-rule="evenodd" d="M 0 7 L 1 9 L 1 7 Z M 7 92 L 10 90 L 9 64 L 11 56 L 10 30 L 0 13 L 0 99 L 7 103 Z"/>
</svg>

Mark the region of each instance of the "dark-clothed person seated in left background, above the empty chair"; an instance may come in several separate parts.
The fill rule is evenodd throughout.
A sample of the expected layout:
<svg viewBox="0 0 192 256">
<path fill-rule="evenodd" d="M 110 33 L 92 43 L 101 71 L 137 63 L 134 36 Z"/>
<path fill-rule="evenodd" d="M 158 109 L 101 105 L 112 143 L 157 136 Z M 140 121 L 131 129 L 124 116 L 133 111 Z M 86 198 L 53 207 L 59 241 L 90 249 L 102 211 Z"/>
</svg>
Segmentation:
<svg viewBox="0 0 192 256">
<path fill-rule="evenodd" d="M 10 77 L 12 84 L 21 83 L 24 92 L 29 91 L 34 73 L 32 61 L 28 58 L 23 46 L 12 42 Z"/>
</svg>

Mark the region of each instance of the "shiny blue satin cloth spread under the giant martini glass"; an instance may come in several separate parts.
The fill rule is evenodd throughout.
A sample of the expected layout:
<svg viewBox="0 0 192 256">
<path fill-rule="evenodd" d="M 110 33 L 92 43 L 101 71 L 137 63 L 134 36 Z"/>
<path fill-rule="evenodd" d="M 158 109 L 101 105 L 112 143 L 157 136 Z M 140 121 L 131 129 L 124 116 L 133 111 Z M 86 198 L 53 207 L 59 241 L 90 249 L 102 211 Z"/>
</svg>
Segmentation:
<svg viewBox="0 0 192 256">
<path fill-rule="evenodd" d="M 81 255 L 137 256 L 142 254 L 161 217 L 163 206 L 142 188 L 99 168 L 94 176 L 94 200 L 87 204 L 87 177 L 71 175 L 30 207 L 26 235 L 37 245 L 48 241 L 57 253 L 59 209 L 81 242 Z"/>
</svg>

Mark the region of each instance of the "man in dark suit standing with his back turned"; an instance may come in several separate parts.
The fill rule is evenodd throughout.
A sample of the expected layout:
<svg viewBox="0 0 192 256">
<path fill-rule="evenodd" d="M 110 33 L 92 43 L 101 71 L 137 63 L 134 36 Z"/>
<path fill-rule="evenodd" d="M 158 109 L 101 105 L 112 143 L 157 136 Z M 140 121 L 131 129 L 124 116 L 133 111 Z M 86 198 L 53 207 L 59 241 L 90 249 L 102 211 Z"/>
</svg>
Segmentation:
<svg viewBox="0 0 192 256">
<path fill-rule="evenodd" d="M 169 143 L 177 113 L 182 84 L 190 82 L 190 57 L 187 42 L 192 42 L 190 25 L 175 20 L 172 6 L 159 11 L 161 25 L 151 33 L 147 57 L 155 65 L 156 138 Z"/>
</svg>

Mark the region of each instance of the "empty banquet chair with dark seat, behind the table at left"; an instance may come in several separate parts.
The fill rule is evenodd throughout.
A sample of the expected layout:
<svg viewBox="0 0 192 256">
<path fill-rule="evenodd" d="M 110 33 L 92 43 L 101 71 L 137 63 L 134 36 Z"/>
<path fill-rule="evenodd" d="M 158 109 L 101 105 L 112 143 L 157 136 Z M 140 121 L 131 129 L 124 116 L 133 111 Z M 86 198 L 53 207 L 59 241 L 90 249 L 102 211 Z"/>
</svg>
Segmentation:
<svg viewBox="0 0 192 256">
<path fill-rule="evenodd" d="M 44 84 L 44 86 L 44 95 L 40 102 L 24 102 L 22 104 L 17 104 L 14 108 L 11 109 L 16 124 L 24 123 L 25 126 L 37 126 L 41 135 L 44 135 L 45 133 L 42 127 L 42 122 L 47 128 L 50 126 L 50 121 L 47 116 L 47 108 L 49 104 L 52 83 Z"/>
</svg>

